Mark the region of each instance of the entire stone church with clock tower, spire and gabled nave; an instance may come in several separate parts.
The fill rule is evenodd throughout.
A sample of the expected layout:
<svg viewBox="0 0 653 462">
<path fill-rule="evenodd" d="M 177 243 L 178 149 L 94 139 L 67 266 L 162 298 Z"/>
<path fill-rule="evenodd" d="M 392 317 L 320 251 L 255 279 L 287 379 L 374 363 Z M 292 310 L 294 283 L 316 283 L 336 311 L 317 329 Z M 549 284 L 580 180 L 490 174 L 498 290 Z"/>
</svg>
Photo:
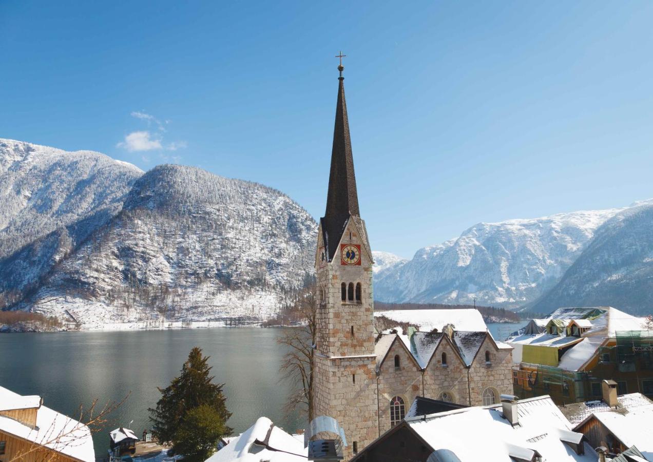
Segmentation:
<svg viewBox="0 0 653 462">
<path fill-rule="evenodd" d="M 417 396 L 478 406 L 512 394 L 513 348 L 486 329 L 451 322 L 407 335 L 375 331 L 374 258 L 358 208 L 342 61 L 338 70 L 327 209 L 315 253 L 313 416 L 342 425 L 348 460 L 401 422 Z"/>
</svg>

